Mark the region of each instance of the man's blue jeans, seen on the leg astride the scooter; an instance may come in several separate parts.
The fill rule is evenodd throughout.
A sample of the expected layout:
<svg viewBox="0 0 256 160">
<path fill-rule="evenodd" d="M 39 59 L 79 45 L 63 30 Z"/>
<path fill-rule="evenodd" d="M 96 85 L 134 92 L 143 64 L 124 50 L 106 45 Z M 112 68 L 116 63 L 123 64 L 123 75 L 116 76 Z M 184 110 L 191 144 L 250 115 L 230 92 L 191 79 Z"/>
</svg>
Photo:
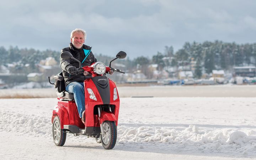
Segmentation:
<svg viewBox="0 0 256 160">
<path fill-rule="evenodd" d="M 71 82 L 66 86 L 66 91 L 74 94 L 78 113 L 82 118 L 82 112 L 85 110 L 84 82 Z"/>
</svg>

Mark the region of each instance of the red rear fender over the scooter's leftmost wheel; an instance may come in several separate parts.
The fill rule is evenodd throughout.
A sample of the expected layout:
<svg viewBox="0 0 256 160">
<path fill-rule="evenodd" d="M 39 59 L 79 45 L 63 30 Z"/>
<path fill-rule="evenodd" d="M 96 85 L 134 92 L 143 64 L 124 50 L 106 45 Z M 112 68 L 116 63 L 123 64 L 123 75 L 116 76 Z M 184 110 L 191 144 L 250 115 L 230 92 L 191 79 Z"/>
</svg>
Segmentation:
<svg viewBox="0 0 256 160">
<path fill-rule="evenodd" d="M 54 106 L 53 114 L 52 114 L 52 123 L 53 119 L 58 116 L 60 119 L 60 127 L 63 129 L 64 125 L 69 125 L 69 116 L 68 111 L 62 104 L 57 104 Z"/>
</svg>

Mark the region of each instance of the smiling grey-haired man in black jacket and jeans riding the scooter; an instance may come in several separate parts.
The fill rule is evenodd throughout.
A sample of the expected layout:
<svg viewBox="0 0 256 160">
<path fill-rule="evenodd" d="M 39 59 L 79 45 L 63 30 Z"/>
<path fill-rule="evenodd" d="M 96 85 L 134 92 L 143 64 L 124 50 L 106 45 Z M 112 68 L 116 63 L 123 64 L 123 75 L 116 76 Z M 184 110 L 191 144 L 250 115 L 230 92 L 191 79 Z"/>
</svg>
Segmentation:
<svg viewBox="0 0 256 160">
<path fill-rule="evenodd" d="M 84 44 L 86 33 L 82 29 L 76 28 L 71 32 L 69 47 L 63 48 L 61 52 L 68 51 L 73 57 L 78 59 L 82 66 L 89 66 L 97 62 L 97 59 L 91 52 L 90 46 Z M 78 113 L 82 122 L 85 123 L 85 96 L 84 96 L 84 80 L 91 77 L 84 74 L 71 74 L 76 68 L 79 68 L 79 63 L 73 59 L 62 59 L 60 57 L 60 67 L 62 68 L 63 77 L 65 80 L 66 91 L 74 93 L 75 103 L 78 107 Z"/>
</svg>

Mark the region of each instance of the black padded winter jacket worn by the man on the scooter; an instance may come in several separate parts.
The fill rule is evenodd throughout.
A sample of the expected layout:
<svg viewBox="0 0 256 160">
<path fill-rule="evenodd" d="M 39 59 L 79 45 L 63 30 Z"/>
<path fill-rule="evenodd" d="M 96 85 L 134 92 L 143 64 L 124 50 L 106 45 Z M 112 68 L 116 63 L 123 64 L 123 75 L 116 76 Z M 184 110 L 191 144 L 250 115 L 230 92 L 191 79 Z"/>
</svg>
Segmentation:
<svg viewBox="0 0 256 160">
<path fill-rule="evenodd" d="M 85 44 L 82 46 L 82 48 L 84 48 L 86 50 L 91 49 L 90 46 L 87 46 Z M 61 50 L 61 53 L 65 52 L 65 51 L 70 52 L 72 54 L 72 56 L 74 58 L 78 59 L 78 61 L 80 61 L 81 63 L 85 58 L 85 54 L 81 54 L 79 52 L 79 50 L 74 49 L 72 43 L 69 44 L 69 47 L 63 48 Z M 92 52 L 90 52 L 90 55 L 87 56 L 85 61 L 82 63 L 82 67 L 89 66 L 89 65 L 91 65 L 92 63 L 95 63 L 95 62 L 97 62 L 97 59 L 94 57 Z M 62 68 L 62 73 L 63 73 L 63 77 L 64 77 L 64 80 L 65 80 L 65 86 L 67 86 L 68 84 L 70 84 L 71 82 L 74 82 L 74 81 L 83 82 L 85 79 L 91 78 L 91 75 L 88 75 L 88 76 L 84 76 L 84 74 L 70 75 L 68 73 L 68 68 L 72 67 L 72 66 L 74 66 L 76 68 L 79 68 L 79 63 L 76 62 L 73 59 L 62 59 L 60 57 L 60 67 Z"/>
</svg>

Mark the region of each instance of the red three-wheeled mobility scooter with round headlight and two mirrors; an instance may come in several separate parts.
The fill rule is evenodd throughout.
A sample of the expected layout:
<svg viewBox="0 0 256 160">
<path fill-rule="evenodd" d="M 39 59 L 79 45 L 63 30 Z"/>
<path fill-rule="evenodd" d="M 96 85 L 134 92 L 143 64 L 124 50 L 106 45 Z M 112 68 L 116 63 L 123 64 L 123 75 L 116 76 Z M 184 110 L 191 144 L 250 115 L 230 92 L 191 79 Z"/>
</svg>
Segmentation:
<svg viewBox="0 0 256 160">
<path fill-rule="evenodd" d="M 65 91 L 65 83 L 62 72 L 54 76 L 58 104 L 54 106 L 52 114 L 52 133 L 55 145 L 63 146 L 66 141 L 66 133 L 74 136 L 85 135 L 93 137 L 98 143 L 102 143 L 105 149 L 114 148 L 117 140 L 117 122 L 119 113 L 119 96 L 116 85 L 106 74 L 121 72 L 111 67 L 111 62 L 118 58 L 125 58 L 126 53 L 120 51 L 109 67 L 101 62 L 91 66 L 81 67 L 81 62 L 75 59 L 71 53 L 62 52 L 63 59 L 74 59 L 80 64 L 72 74 L 91 74 L 91 78 L 84 81 L 85 90 L 85 124 L 81 121 L 78 109 L 74 101 L 73 93 Z"/>
</svg>

